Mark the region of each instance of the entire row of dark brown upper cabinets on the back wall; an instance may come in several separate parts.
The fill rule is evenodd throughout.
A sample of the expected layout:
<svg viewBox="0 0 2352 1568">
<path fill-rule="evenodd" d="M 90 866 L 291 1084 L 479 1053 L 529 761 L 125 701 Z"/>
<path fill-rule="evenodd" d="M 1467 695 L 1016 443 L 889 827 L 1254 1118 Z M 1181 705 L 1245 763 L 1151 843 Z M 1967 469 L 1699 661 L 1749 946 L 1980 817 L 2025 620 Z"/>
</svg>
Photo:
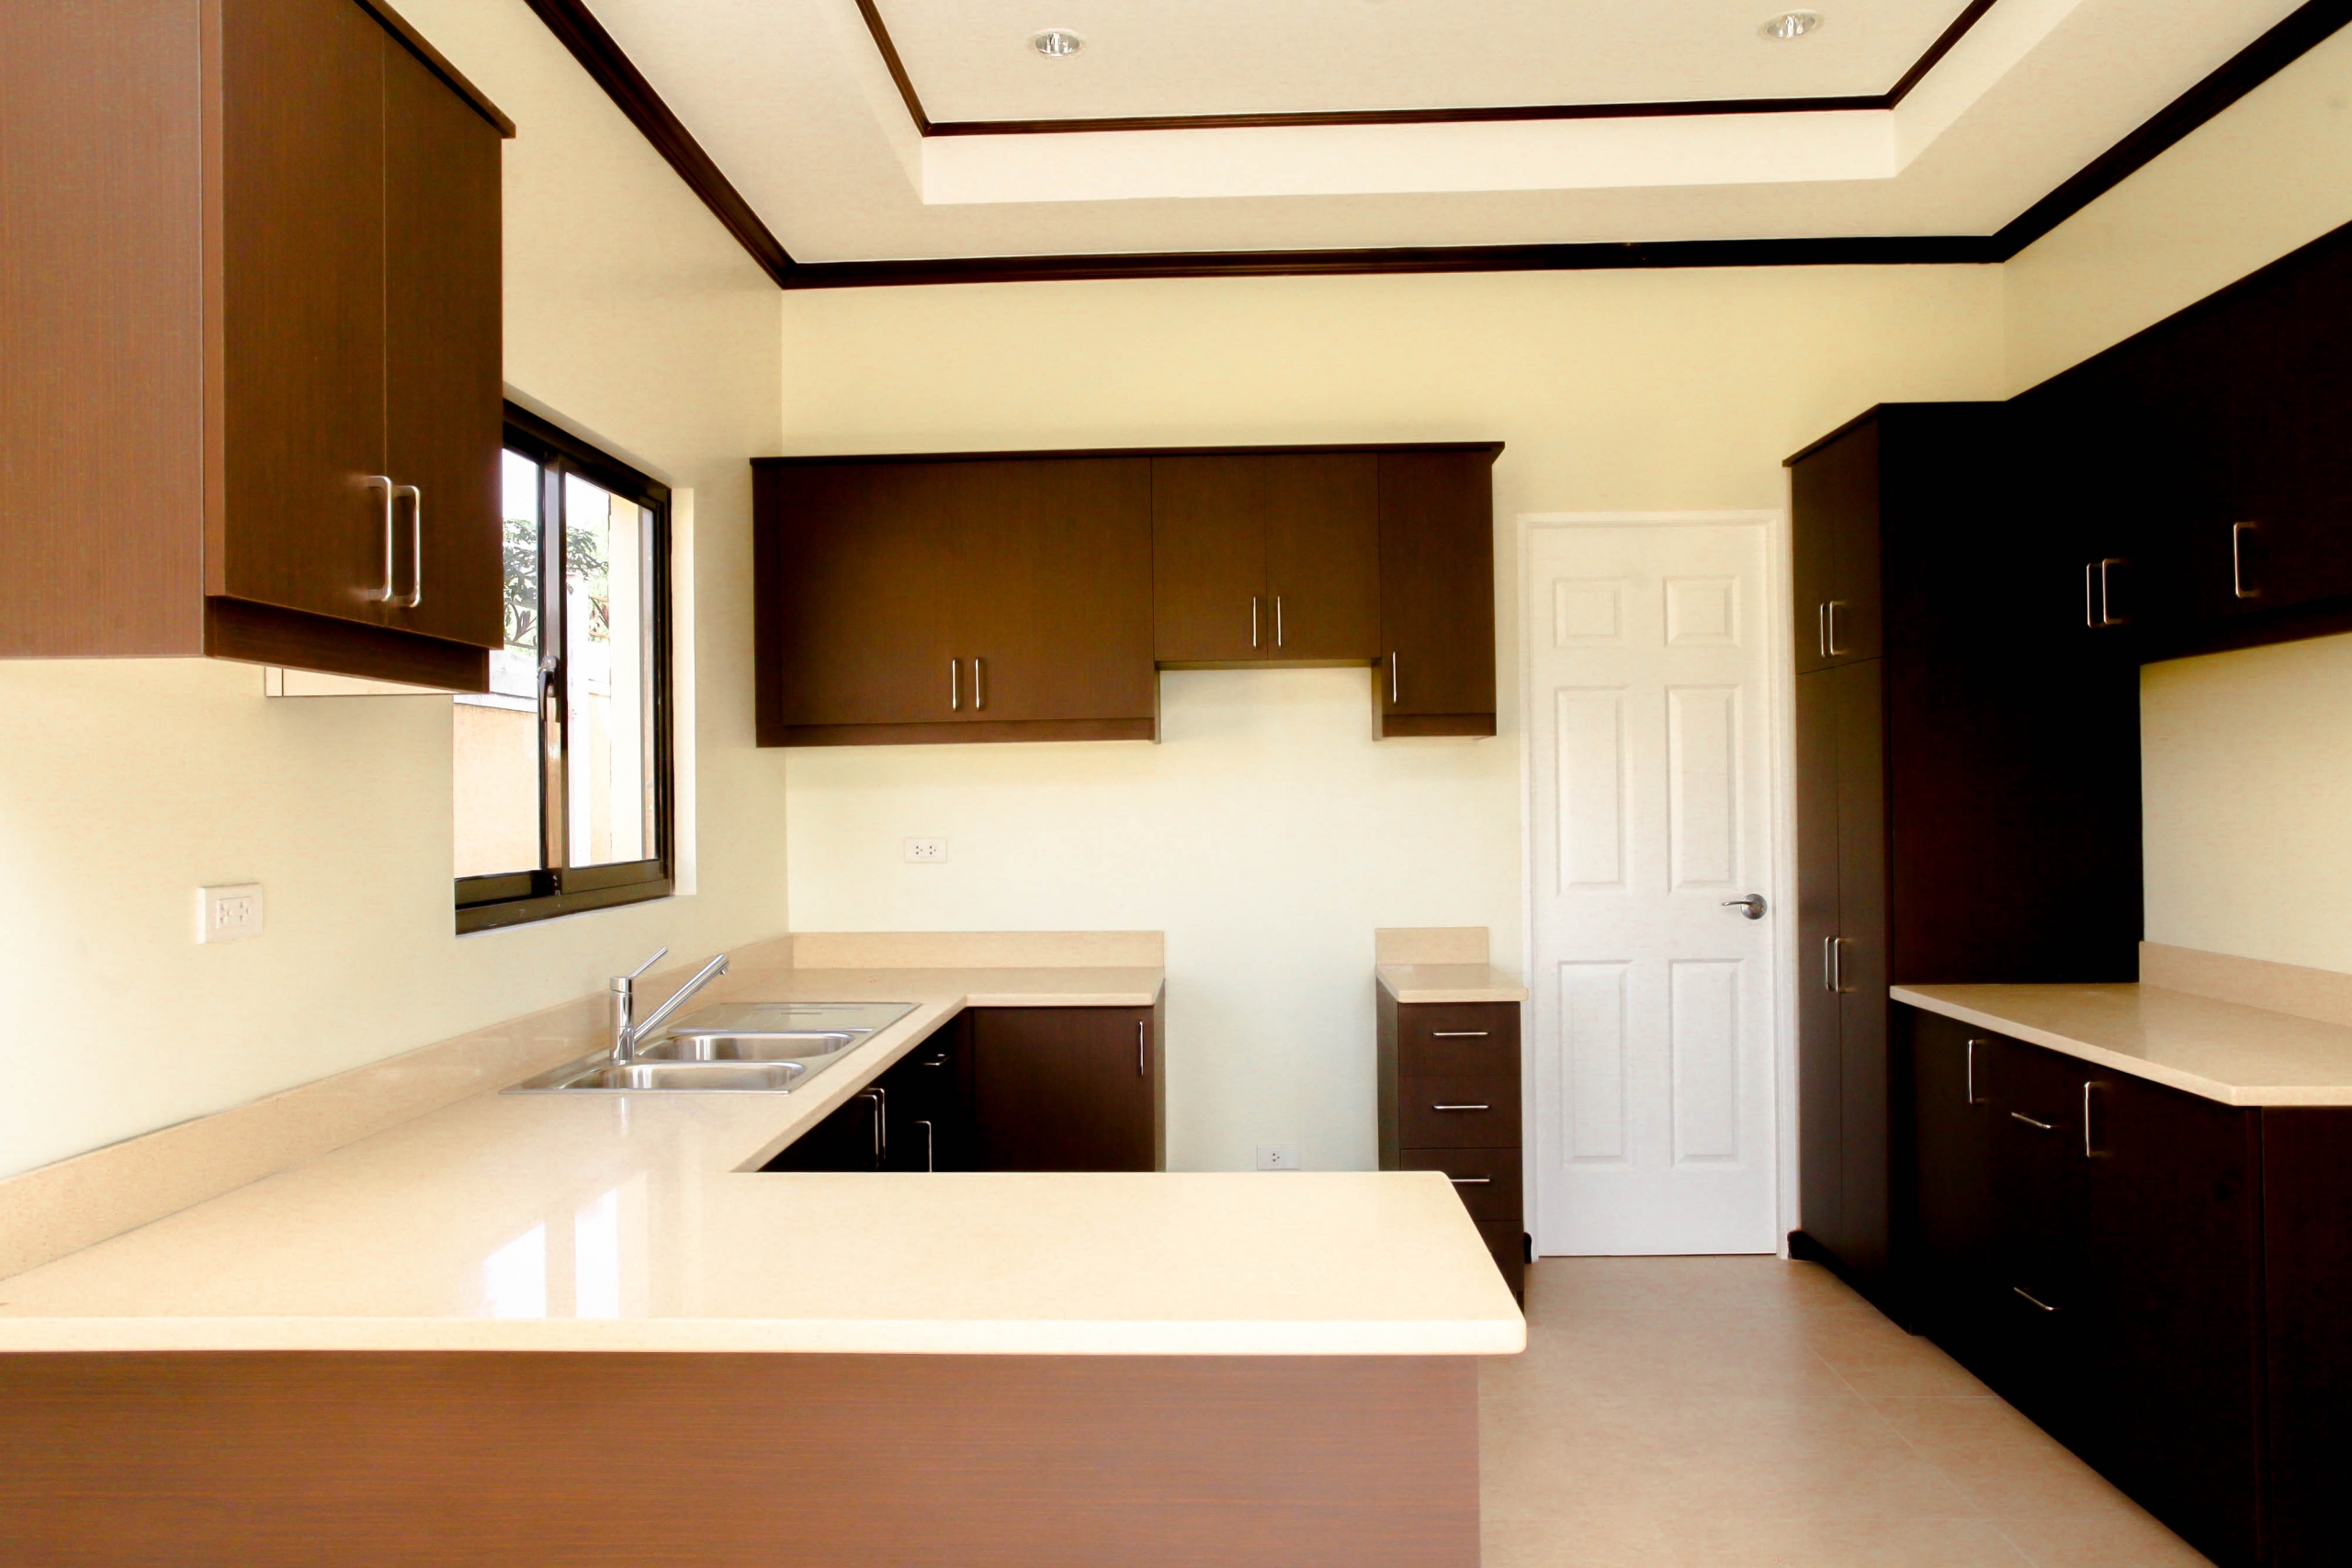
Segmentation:
<svg viewBox="0 0 2352 1568">
<path fill-rule="evenodd" d="M 1150 741 L 1157 665 L 1494 733 L 1501 444 L 753 461 L 760 745 Z"/>
</svg>

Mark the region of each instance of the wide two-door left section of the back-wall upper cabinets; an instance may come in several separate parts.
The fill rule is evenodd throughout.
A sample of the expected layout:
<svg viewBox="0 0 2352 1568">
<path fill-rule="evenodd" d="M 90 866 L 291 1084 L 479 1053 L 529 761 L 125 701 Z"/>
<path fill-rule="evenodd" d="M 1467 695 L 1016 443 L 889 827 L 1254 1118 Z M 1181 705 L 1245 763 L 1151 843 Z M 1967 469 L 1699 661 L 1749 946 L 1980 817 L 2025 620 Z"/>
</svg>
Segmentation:
<svg viewBox="0 0 2352 1568">
<path fill-rule="evenodd" d="M 1150 741 L 1145 458 L 753 463 L 762 745 Z"/>
</svg>

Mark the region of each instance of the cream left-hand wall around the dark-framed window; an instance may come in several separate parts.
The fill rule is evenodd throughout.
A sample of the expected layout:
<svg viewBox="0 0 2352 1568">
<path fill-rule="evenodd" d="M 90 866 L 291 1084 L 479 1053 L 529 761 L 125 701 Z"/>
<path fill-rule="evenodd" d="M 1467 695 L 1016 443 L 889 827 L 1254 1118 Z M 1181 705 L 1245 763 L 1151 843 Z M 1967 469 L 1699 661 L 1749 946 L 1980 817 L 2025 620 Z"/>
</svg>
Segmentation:
<svg viewBox="0 0 2352 1568">
<path fill-rule="evenodd" d="M 452 936 L 447 698 L 263 701 L 205 661 L 0 663 L 0 1173 L 786 929 L 781 766 L 750 748 L 743 458 L 779 299 L 522 0 L 402 0 L 520 127 L 510 383 L 691 489 L 701 891 Z M 268 886 L 198 947 L 195 889 Z"/>
</svg>

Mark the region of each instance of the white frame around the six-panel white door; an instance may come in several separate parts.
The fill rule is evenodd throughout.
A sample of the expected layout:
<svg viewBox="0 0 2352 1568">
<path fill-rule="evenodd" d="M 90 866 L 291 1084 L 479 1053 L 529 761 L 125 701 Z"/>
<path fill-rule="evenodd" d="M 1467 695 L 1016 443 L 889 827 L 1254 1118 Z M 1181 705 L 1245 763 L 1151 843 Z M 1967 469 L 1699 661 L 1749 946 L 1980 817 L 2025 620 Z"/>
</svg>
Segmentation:
<svg viewBox="0 0 2352 1568">
<path fill-rule="evenodd" d="M 1712 510 L 1712 512 L 1519 512 L 1517 517 L 1517 590 L 1512 616 L 1519 623 L 1519 973 L 1526 976 L 1529 1001 L 1534 1004 L 1534 990 L 1543 985 L 1543 976 L 1536 971 L 1536 625 L 1548 625 L 1548 616 L 1536 616 L 1529 595 L 1531 574 L 1529 559 L 1534 555 L 1538 529 L 1599 529 L 1599 527 L 1689 527 L 1689 524 L 1712 524 L 1712 527 L 1748 527 L 1764 531 L 1764 607 L 1762 607 L 1762 632 L 1766 649 L 1766 677 L 1764 677 L 1764 745 L 1769 755 L 1766 764 L 1766 816 L 1771 818 L 1771 875 L 1766 877 L 1773 910 L 1771 929 L 1771 1060 L 1773 1060 L 1773 1093 L 1771 1093 L 1771 1126 L 1773 1126 L 1773 1213 L 1778 1218 L 1773 1251 L 1788 1258 L 1788 1234 L 1797 1227 L 1797 952 L 1795 952 L 1795 922 L 1797 910 L 1797 748 L 1792 736 L 1797 729 L 1797 672 L 1785 658 L 1788 649 L 1795 646 L 1795 607 L 1792 607 L 1792 536 L 1788 508 L 1773 510 Z M 1536 1081 L 1536 1030 L 1526 1027 L 1519 1032 L 1519 1084 L 1531 1086 Z M 1538 1095 L 1522 1093 L 1522 1128 L 1519 1147 L 1538 1150 L 1536 1114 L 1541 1112 Z M 1529 1237 L 1538 1234 L 1541 1227 L 1541 1197 L 1536 1192 L 1538 1161 L 1529 1159 L 1522 1173 L 1526 1187 L 1526 1222 Z"/>
</svg>

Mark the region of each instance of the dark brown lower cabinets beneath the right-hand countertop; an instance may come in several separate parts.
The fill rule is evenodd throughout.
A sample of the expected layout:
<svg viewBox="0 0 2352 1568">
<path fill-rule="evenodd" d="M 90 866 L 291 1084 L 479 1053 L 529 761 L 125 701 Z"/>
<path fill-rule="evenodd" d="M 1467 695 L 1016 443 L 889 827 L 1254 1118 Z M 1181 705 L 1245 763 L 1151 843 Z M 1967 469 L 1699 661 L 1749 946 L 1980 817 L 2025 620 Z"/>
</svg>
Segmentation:
<svg viewBox="0 0 2352 1568">
<path fill-rule="evenodd" d="M 2265 1131 L 2279 1112 L 1933 1013 L 1900 1018 L 1919 1328 L 2216 1563 L 2343 1561 L 2340 1509 L 2328 1505 L 2324 1549 L 2281 1549 L 2265 1507 L 2265 1446 L 2272 1474 L 2293 1474 L 2286 1446 L 2265 1439 L 2263 1295 L 2293 1267 L 2263 1246 L 2265 1206 L 2279 1204 Z M 2336 1138 L 2347 1131 L 2336 1112 Z M 2345 1229 L 2347 1190 L 2331 1234 Z M 2338 1368 L 2343 1300 L 2324 1307 L 2338 1347 L 2321 1356 Z M 2272 1359 L 2277 1333 L 2272 1321 Z M 2300 1399 L 2277 1373 L 2270 1387 Z M 2347 1429 L 2343 1408 L 2321 1425 Z"/>
</svg>

